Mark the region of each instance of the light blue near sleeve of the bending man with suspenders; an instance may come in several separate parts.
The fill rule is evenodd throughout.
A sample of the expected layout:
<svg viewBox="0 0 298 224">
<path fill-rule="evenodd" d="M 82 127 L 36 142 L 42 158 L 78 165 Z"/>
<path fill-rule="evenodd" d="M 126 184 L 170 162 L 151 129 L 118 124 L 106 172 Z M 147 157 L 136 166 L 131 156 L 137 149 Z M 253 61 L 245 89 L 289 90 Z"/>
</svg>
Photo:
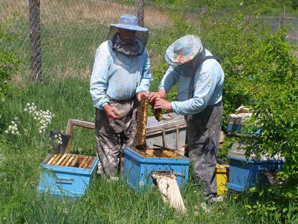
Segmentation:
<svg viewBox="0 0 298 224">
<path fill-rule="evenodd" d="M 214 93 L 216 88 L 216 76 L 205 72 L 196 77 L 194 89 L 194 98 L 185 101 L 171 102 L 172 110 L 180 115 L 190 115 L 203 111 Z"/>
</svg>

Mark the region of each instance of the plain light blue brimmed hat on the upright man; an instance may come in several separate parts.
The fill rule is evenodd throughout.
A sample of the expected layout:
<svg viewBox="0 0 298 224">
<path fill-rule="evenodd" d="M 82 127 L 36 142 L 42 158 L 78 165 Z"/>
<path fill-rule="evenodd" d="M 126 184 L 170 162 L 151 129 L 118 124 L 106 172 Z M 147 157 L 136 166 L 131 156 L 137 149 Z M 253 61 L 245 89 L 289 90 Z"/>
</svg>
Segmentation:
<svg viewBox="0 0 298 224">
<path fill-rule="evenodd" d="M 137 16 L 134 16 L 132 14 L 124 14 L 120 17 L 119 23 L 111 24 L 111 26 L 126 29 L 126 30 L 148 32 L 147 28 L 140 27 L 139 25 L 137 25 L 137 22 L 138 22 Z"/>
</svg>

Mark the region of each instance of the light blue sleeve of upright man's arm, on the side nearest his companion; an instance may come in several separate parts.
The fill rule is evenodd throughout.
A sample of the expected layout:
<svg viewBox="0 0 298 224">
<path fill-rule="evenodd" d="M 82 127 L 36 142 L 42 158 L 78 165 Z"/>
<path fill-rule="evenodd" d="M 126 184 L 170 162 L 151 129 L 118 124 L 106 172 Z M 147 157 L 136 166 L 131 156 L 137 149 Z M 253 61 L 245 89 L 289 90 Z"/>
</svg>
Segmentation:
<svg viewBox="0 0 298 224">
<path fill-rule="evenodd" d="M 150 59 L 148 57 L 147 51 L 144 52 L 144 67 L 143 74 L 141 76 L 140 85 L 136 89 L 136 93 L 139 92 L 149 92 L 150 82 L 153 80 L 150 73 Z"/>
</svg>

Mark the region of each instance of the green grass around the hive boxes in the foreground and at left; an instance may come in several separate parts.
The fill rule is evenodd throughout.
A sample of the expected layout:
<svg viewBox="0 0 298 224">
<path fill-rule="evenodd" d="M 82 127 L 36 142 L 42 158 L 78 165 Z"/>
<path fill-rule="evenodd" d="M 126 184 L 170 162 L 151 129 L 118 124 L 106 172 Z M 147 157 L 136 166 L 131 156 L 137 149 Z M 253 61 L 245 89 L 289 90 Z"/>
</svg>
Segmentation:
<svg viewBox="0 0 298 224">
<path fill-rule="evenodd" d="M 56 116 L 40 135 L 32 117 L 23 111 L 27 102 L 38 109 L 49 110 Z M 277 220 L 247 215 L 245 196 L 235 200 L 235 194 L 225 194 L 225 201 L 207 205 L 205 212 L 203 192 L 192 178 L 182 190 L 187 212 L 177 214 L 163 204 L 157 188 L 148 188 L 144 194 L 130 190 L 122 181 L 108 183 L 95 177 L 80 199 L 51 197 L 36 193 L 41 164 L 49 147 L 49 130 L 64 131 L 69 118 L 93 122 L 94 109 L 89 96 L 89 83 L 70 78 L 49 85 L 27 85 L 19 94 L 5 100 L 8 113 L 5 119 L 16 120 L 19 137 L 3 135 L 0 140 L 0 223 L 275 223 Z M 27 131 L 24 131 L 24 128 Z M 75 129 L 72 153 L 95 155 L 93 131 Z M 121 179 L 121 176 L 119 176 Z"/>
</svg>

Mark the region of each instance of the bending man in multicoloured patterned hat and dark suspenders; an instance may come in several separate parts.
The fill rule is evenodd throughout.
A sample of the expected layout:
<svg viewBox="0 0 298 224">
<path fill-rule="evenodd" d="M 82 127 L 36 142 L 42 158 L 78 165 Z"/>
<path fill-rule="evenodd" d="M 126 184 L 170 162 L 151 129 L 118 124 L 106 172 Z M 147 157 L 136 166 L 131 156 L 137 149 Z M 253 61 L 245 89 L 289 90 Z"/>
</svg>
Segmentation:
<svg viewBox="0 0 298 224">
<path fill-rule="evenodd" d="M 194 164 L 196 181 L 202 183 L 206 199 L 216 201 L 216 157 L 222 124 L 224 71 L 203 47 L 200 38 L 187 35 L 168 47 L 165 61 L 170 65 L 158 92 L 149 94 L 154 109 L 185 115 L 187 156 Z M 177 101 L 165 96 L 179 82 Z"/>
</svg>

